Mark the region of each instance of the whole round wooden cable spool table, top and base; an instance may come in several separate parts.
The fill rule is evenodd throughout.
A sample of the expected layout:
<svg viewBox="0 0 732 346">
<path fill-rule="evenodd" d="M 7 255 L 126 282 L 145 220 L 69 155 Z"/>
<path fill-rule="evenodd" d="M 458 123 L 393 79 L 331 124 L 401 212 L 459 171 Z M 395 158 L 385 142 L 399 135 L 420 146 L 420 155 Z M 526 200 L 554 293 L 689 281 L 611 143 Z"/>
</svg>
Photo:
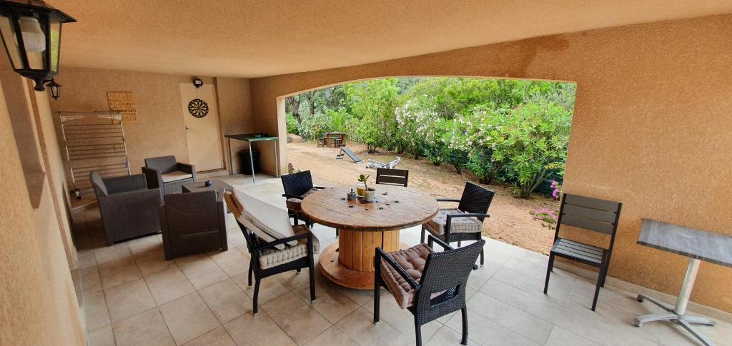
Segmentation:
<svg viewBox="0 0 732 346">
<path fill-rule="evenodd" d="M 302 212 L 321 225 L 337 228 L 337 244 L 327 247 L 318 263 L 329 280 L 348 288 L 373 288 L 376 247 L 400 249 L 399 230 L 421 225 L 437 214 L 437 201 L 401 186 L 378 185 L 376 202 L 348 201 L 351 188 L 325 188 L 302 201 Z"/>
</svg>

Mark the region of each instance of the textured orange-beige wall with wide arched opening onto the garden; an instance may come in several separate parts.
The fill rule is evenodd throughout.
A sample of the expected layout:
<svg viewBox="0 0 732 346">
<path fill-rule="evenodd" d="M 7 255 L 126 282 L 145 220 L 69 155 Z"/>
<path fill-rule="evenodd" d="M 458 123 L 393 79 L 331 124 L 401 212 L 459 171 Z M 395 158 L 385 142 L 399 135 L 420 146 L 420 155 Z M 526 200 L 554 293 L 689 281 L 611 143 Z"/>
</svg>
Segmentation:
<svg viewBox="0 0 732 346">
<path fill-rule="evenodd" d="M 641 218 L 732 234 L 731 32 L 732 15 L 719 15 L 253 79 L 255 130 L 280 134 L 284 147 L 277 97 L 351 80 L 452 75 L 577 82 L 565 192 L 623 202 L 610 275 L 675 295 L 687 258 L 635 241 Z M 270 172 L 271 151 L 264 152 Z M 732 269 L 705 263 L 692 300 L 732 311 L 729 282 Z"/>
</svg>

